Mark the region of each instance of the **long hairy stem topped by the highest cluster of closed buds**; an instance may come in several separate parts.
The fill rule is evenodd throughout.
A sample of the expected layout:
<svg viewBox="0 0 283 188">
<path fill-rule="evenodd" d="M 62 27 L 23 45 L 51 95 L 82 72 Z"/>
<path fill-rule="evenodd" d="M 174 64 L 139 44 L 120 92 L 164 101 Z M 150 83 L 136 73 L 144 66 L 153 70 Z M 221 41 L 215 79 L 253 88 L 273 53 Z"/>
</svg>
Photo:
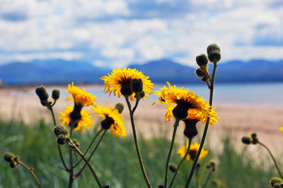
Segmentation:
<svg viewBox="0 0 283 188">
<path fill-rule="evenodd" d="M 214 84 L 214 76 L 215 76 L 215 71 L 216 71 L 216 62 L 213 63 L 214 66 L 213 66 L 213 73 L 212 73 L 212 77 L 211 77 L 211 82 L 210 82 L 210 96 L 209 96 L 209 105 L 212 106 L 212 99 L 213 99 L 213 84 Z M 211 107 L 210 107 L 211 109 Z M 190 182 L 191 182 L 191 178 L 193 177 L 193 174 L 194 174 L 194 170 L 197 166 L 197 161 L 198 161 L 198 158 L 201 154 L 201 150 L 204 146 L 204 141 L 205 141 L 205 138 L 206 138 L 206 134 L 207 134 L 207 130 L 208 130 L 208 126 L 209 126 L 209 120 L 210 120 L 210 117 L 207 118 L 206 120 L 206 124 L 205 124 L 205 127 L 204 127 L 204 133 L 202 135 L 202 138 L 201 138 L 201 144 L 200 144 L 200 147 L 198 149 L 198 152 L 197 152 L 197 156 L 196 158 L 194 159 L 194 164 L 191 168 L 191 172 L 190 172 L 190 175 L 188 177 L 188 180 L 186 182 L 186 185 L 185 185 L 185 188 L 188 188 Z"/>
</svg>

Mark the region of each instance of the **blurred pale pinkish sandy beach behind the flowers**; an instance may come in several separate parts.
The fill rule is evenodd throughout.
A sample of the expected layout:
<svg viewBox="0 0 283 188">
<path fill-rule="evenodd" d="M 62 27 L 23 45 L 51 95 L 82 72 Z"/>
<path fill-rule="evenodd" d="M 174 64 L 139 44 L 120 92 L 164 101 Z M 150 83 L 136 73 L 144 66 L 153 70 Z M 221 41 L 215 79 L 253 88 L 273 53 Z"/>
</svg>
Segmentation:
<svg viewBox="0 0 283 188">
<path fill-rule="evenodd" d="M 53 87 L 51 87 L 53 88 Z M 34 94 L 35 87 L 26 87 L 21 89 L 0 89 L 0 118 L 9 120 L 23 119 L 26 123 L 33 123 L 36 120 L 44 118 L 47 122 L 51 122 L 51 114 L 46 107 L 43 107 L 39 98 Z M 26 93 L 22 95 L 19 93 Z M 51 97 L 50 97 L 51 98 Z M 52 99 L 51 99 L 52 100 Z M 97 104 L 101 106 L 114 106 L 117 102 L 125 105 L 123 111 L 124 124 L 126 134 L 132 134 L 129 112 L 126 108 L 125 100 L 116 99 L 97 99 Z M 135 111 L 135 126 L 139 132 L 145 136 L 152 134 L 158 135 L 165 130 L 168 132 L 168 137 L 173 131 L 174 119 L 170 122 L 164 122 L 165 106 L 161 104 L 151 105 L 151 101 L 141 101 Z M 56 117 L 60 116 L 60 111 L 64 111 L 65 107 L 73 105 L 73 101 L 65 101 L 65 97 L 61 97 L 54 106 Z M 134 105 L 134 103 L 132 103 Z M 208 130 L 207 142 L 210 145 L 217 145 L 223 138 L 223 134 L 232 133 L 241 145 L 241 137 L 250 135 L 252 132 L 257 132 L 260 141 L 270 146 L 275 155 L 281 154 L 283 149 L 281 143 L 283 134 L 279 127 L 282 126 L 283 107 L 275 105 L 235 105 L 214 103 L 213 108 L 216 108 L 218 124 L 210 126 Z M 92 112 L 91 112 L 92 113 Z M 99 117 L 93 117 L 95 122 L 100 120 Z M 58 120 L 59 122 L 59 120 Z M 199 134 L 202 134 L 203 124 L 198 126 Z M 177 141 L 183 141 L 183 126 L 180 123 L 177 132 Z M 178 139 L 179 138 L 179 139 Z M 276 149 L 277 148 L 277 149 Z"/>
</svg>

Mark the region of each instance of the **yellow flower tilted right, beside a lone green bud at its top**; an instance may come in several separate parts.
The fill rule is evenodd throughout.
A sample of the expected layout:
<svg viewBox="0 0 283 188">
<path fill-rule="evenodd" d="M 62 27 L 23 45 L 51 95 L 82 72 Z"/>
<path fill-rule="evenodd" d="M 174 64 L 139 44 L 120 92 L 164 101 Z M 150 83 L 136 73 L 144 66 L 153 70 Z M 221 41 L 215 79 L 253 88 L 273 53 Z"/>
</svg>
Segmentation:
<svg viewBox="0 0 283 188">
<path fill-rule="evenodd" d="M 103 117 L 101 126 L 104 129 L 110 129 L 111 134 L 113 133 L 116 137 L 124 138 L 126 136 L 126 128 L 123 123 L 123 116 L 119 113 L 119 110 L 113 107 L 91 107 L 95 111 L 96 116 Z"/>
</svg>

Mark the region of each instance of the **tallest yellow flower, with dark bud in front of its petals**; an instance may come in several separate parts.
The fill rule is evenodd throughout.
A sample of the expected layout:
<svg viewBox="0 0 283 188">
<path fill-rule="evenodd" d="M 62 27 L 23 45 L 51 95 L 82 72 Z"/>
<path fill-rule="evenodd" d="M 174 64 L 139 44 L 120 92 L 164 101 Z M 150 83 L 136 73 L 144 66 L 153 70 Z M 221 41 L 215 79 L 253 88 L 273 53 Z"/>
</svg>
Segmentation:
<svg viewBox="0 0 283 188">
<path fill-rule="evenodd" d="M 114 96 L 118 94 L 118 97 L 122 99 L 122 95 L 127 94 L 131 101 L 133 100 L 133 92 L 132 92 L 132 80 L 134 78 L 141 78 L 143 83 L 143 91 L 145 92 L 145 96 L 149 97 L 151 94 L 151 89 L 153 89 L 153 83 L 148 80 L 149 77 L 146 77 L 142 72 L 139 72 L 136 69 L 131 68 L 117 68 L 113 69 L 111 75 L 108 73 L 108 76 L 103 76 L 101 80 L 104 80 L 105 86 L 103 87 L 104 92 L 109 92 L 109 96 L 113 91 Z M 121 93 L 122 90 L 122 93 Z M 145 99 L 143 97 L 142 99 Z"/>
</svg>

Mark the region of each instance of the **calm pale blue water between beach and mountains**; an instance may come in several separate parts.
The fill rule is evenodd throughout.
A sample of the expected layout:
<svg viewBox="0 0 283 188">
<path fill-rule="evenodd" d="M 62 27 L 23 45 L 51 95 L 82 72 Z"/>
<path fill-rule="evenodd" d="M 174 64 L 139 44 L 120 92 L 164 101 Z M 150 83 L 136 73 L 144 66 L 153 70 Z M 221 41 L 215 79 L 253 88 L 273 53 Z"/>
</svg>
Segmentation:
<svg viewBox="0 0 283 188">
<path fill-rule="evenodd" d="M 181 87 L 182 85 L 177 85 Z M 189 88 L 197 93 L 199 96 L 203 96 L 204 99 L 209 100 L 209 89 L 205 84 L 190 84 L 183 85 L 185 88 Z M 81 86 L 79 86 L 81 87 Z M 153 90 L 158 90 L 163 85 L 154 85 Z M 56 88 L 56 87 L 54 87 Z M 67 86 L 66 86 L 67 88 Z M 92 93 L 99 99 L 107 99 L 109 93 L 104 94 L 103 85 L 101 86 L 85 86 L 87 92 Z M 69 93 L 65 91 L 65 88 L 59 87 L 61 91 L 61 97 L 67 97 Z M 48 88 L 48 93 L 51 94 L 52 89 Z M 31 92 L 33 93 L 33 92 Z M 26 94 L 24 94 L 26 95 Z M 35 95 L 35 93 L 31 94 Z M 109 96 L 110 99 L 117 99 L 113 93 Z M 155 101 L 158 97 L 151 95 L 149 101 Z M 275 105 L 283 107 L 283 83 L 237 83 L 237 84 L 214 84 L 213 102 L 227 103 L 227 104 L 261 104 L 261 105 Z"/>
</svg>

